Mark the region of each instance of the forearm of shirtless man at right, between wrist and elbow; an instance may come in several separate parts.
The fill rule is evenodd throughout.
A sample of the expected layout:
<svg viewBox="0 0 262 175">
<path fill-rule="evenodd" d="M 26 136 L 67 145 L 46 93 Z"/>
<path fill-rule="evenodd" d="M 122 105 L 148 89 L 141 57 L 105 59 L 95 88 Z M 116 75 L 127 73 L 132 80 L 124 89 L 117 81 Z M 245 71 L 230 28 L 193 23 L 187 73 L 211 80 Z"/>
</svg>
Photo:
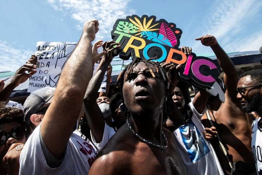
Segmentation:
<svg viewBox="0 0 262 175">
<path fill-rule="evenodd" d="M 211 46 L 211 49 L 214 51 L 217 57 L 219 66 L 226 74 L 232 74 L 236 72 L 236 67 L 234 66 L 232 60 L 218 43 Z"/>
</svg>

